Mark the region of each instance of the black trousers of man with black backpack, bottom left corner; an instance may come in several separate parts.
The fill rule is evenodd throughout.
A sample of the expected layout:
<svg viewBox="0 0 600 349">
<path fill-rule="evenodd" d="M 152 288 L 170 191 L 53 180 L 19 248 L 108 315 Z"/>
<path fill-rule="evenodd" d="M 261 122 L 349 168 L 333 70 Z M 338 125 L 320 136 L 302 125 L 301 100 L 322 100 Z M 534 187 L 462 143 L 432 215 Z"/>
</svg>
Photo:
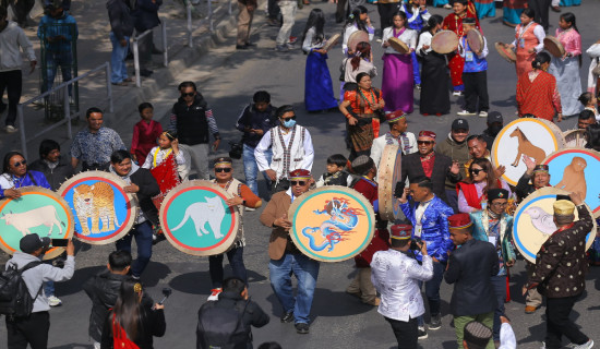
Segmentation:
<svg viewBox="0 0 600 349">
<path fill-rule="evenodd" d="M 46 349 L 48 347 L 48 330 L 50 314 L 48 312 L 32 313 L 29 317 L 7 318 L 7 341 L 9 349 Z"/>
</svg>

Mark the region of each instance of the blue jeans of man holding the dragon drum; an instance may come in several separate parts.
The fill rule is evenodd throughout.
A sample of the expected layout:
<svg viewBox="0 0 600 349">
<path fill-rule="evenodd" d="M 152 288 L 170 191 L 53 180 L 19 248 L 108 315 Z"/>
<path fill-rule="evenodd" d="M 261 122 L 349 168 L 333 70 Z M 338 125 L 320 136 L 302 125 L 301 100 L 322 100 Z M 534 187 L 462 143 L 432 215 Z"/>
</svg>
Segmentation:
<svg viewBox="0 0 600 349">
<path fill-rule="evenodd" d="M 284 313 L 293 312 L 295 323 L 308 324 L 312 298 L 319 277 L 319 262 L 301 253 L 286 253 L 278 260 L 268 262 L 271 287 L 284 308 Z M 298 280 L 297 297 L 291 288 L 291 275 Z"/>
</svg>

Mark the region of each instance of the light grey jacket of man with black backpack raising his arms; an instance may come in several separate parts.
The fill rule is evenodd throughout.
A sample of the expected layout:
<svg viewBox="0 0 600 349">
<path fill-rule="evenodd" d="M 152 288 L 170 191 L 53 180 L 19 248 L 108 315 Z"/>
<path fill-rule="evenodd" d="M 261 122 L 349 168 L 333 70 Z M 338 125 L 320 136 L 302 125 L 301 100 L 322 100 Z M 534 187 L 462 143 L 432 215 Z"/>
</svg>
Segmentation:
<svg viewBox="0 0 600 349">
<path fill-rule="evenodd" d="M 17 268 L 22 268 L 31 262 L 39 261 L 38 257 L 33 256 L 28 253 L 23 253 L 16 251 L 12 258 L 7 262 L 7 269 L 10 265 L 16 265 Z M 75 257 L 70 255 L 67 256 L 67 262 L 64 263 L 63 268 L 57 268 L 49 264 L 40 264 L 36 267 L 33 267 L 25 273 L 23 273 L 23 280 L 29 289 L 32 298 L 35 298 L 33 313 L 46 312 L 50 310 L 48 305 L 48 299 L 44 293 L 44 288 L 41 284 L 44 281 L 67 281 L 73 277 L 75 272 Z M 39 291 L 39 293 L 37 293 Z M 39 297 L 40 296 L 40 297 Z"/>
</svg>

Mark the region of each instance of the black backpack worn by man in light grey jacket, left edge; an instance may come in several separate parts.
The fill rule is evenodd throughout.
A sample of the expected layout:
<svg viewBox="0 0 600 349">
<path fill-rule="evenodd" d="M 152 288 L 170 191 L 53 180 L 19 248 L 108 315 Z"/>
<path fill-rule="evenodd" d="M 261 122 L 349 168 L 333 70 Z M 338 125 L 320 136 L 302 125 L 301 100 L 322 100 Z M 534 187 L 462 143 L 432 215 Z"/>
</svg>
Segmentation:
<svg viewBox="0 0 600 349">
<path fill-rule="evenodd" d="M 0 314 L 7 315 L 7 318 L 27 317 L 32 314 L 35 298 L 32 298 L 22 275 L 25 270 L 40 264 L 40 261 L 29 262 L 21 269 L 13 264 L 0 274 Z M 41 286 L 37 290 L 36 298 L 39 291 Z"/>
</svg>

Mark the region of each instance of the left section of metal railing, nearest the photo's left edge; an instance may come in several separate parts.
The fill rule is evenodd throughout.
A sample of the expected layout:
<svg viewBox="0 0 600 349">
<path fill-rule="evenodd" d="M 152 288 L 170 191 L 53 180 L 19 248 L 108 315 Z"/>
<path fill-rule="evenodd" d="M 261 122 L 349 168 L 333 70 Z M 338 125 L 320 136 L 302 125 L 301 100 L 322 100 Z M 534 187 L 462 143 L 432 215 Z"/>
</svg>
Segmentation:
<svg viewBox="0 0 600 349">
<path fill-rule="evenodd" d="M 71 113 L 71 107 L 69 105 L 69 85 L 72 85 L 75 82 L 79 82 L 80 80 L 82 80 L 84 77 L 87 77 L 87 76 L 89 76 L 89 75 L 92 75 L 92 74 L 94 74 L 98 71 L 104 71 L 106 73 L 106 98 L 101 99 L 101 100 L 98 100 L 98 103 L 104 103 L 105 100 L 108 100 L 108 110 L 110 112 L 113 112 L 115 109 L 112 107 L 112 86 L 110 85 L 110 63 L 109 62 L 105 62 L 104 64 L 94 68 L 93 70 L 86 72 L 83 75 L 80 75 L 75 79 L 72 79 L 72 80 L 68 81 L 68 82 L 63 82 L 62 84 L 60 84 L 58 86 L 53 86 L 52 88 L 50 88 L 49 91 L 43 93 L 41 95 L 38 95 L 34 98 L 25 100 L 25 101 L 19 104 L 19 106 L 16 106 L 16 117 L 19 118 L 19 124 L 20 124 L 19 128 L 20 128 L 20 133 L 21 133 L 21 149 L 23 151 L 23 155 L 25 155 L 25 158 L 28 158 L 28 156 L 27 156 L 27 142 L 33 141 L 33 140 L 37 139 L 38 136 L 40 136 L 45 133 L 48 133 L 49 131 L 58 128 L 59 125 L 61 125 L 63 123 L 67 123 L 67 137 L 69 137 L 69 140 L 73 139 L 73 130 L 71 128 L 71 120 L 73 118 L 79 117 L 81 111 L 76 111 L 74 113 Z M 63 106 L 64 119 L 62 119 L 61 121 L 59 121 L 57 123 L 53 123 L 50 127 L 39 131 L 38 133 L 36 133 L 35 135 L 33 135 L 31 139 L 27 140 L 26 132 L 25 132 L 25 117 L 23 115 L 23 107 L 26 106 L 26 105 L 33 104 L 34 101 L 46 98 L 50 94 L 52 94 L 52 93 L 55 93 L 59 89 L 62 89 L 63 105 L 64 105 Z"/>
</svg>

